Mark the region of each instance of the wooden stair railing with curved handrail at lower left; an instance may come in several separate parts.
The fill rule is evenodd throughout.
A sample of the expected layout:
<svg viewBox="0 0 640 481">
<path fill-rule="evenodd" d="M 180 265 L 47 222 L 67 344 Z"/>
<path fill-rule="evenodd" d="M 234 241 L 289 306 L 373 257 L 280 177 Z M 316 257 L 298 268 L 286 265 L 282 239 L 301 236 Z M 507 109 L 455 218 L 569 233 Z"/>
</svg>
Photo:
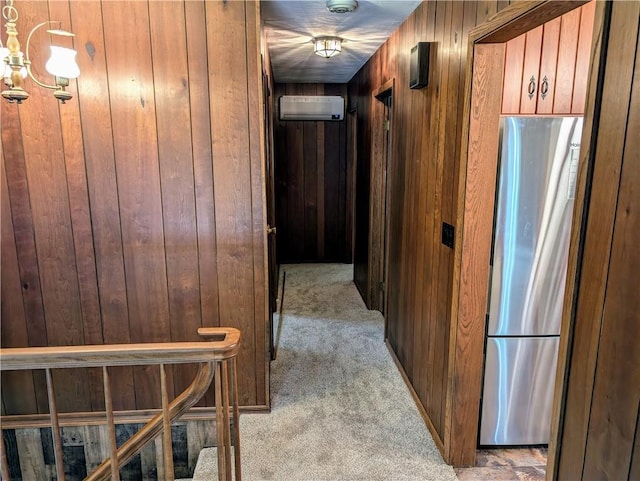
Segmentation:
<svg viewBox="0 0 640 481">
<path fill-rule="evenodd" d="M 120 466 L 126 464 L 136 454 L 145 447 L 147 443 L 154 440 L 160 433 L 167 431 L 167 426 L 178 419 L 189 408 L 194 406 L 205 394 L 212 380 L 216 379 L 216 394 L 218 394 L 219 383 L 225 385 L 223 400 L 216 399 L 217 420 L 224 420 L 229 423 L 229 391 L 232 398 L 232 411 L 234 422 L 234 443 L 236 444 L 235 479 L 240 480 L 239 462 L 239 436 L 238 436 L 238 397 L 237 382 L 235 373 L 235 357 L 238 353 L 240 343 L 240 331 L 234 328 L 200 328 L 198 334 L 205 338 L 200 342 L 180 342 L 180 343 L 141 343 L 141 344 L 111 344 L 111 345 L 91 345 L 91 346 L 56 346 L 56 347 L 31 347 L 31 348 L 8 348 L 0 350 L 0 370 L 28 370 L 28 369 L 50 369 L 78 368 L 78 367 L 102 367 L 105 373 L 105 381 L 108 382 L 107 366 L 137 366 L 137 365 L 162 365 L 178 363 L 198 363 L 199 369 L 193 382 L 178 395 L 173 401 L 167 404 L 163 400 L 164 409 L 147 422 L 137 433 L 129 438 L 111 458 L 107 458 L 100 466 L 90 473 L 85 481 L 108 480 L 114 471 L 117 472 Z M 226 373 L 231 362 L 233 383 L 231 389 L 228 386 L 227 376 L 220 379 L 220 373 Z M 164 369 L 162 367 L 161 369 Z M 106 386 L 105 386 L 106 387 Z M 105 389 L 108 392 L 109 389 Z M 164 394 L 163 394 L 164 395 Z M 108 402 L 108 401 L 107 401 Z M 113 423 L 113 413 L 111 416 L 107 409 L 108 424 Z M 57 419 L 52 419 L 52 428 L 58 429 Z M 228 429 L 228 426 L 225 427 Z M 169 434 L 165 432 L 166 436 Z M 229 436 L 218 439 L 220 448 L 230 452 L 231 444 Z M 1 440 L 0 440 L 0 444 Z M 168 443 L 170 444 L 170 443 Z M 4 445 L 1 446 L 4 448 Z M 0 450 L 2 454 L 4 450 Z M 168 459 L 168 453 L 165 458 Z M 224 464 L 220 465 L 219 478 L 230 478 L 230 459 L 226 457 Z M 6 462 L 6 461 L 5 461 Z M 115 466 L 113 464 L 115 463 Z M 3 464 L 3 468 L 6 466 Z M 58 463 L 56 463 L 58 464 Z M 171 464 L 171 463 L 169 463 Z M 60 467 L 57 466 L 58 469 Z M 63 471 L 64 473 L 64 471 Z M 64 479 L 59 475 L 59 479 Z"/>
</svg>

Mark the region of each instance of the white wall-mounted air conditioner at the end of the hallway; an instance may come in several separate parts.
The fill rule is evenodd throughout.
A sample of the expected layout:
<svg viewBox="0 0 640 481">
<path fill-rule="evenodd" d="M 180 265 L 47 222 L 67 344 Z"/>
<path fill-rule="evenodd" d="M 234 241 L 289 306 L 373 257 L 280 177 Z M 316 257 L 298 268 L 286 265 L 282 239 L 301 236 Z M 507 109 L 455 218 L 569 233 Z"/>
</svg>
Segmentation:
<svg viewBox="0 0 640 481">
<path fill-rule="evenodd" d="M 338 95 L 283 95 L 280 120 L 342 120 L 344 98 Z"/>
</svg>

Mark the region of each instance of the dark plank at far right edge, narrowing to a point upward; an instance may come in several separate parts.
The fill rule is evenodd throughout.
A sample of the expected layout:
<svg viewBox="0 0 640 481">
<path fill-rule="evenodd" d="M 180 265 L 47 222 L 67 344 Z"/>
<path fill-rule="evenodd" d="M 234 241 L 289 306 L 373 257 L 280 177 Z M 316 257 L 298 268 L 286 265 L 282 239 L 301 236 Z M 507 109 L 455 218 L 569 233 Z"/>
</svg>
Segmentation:
<svg viewBox="0 0 640 481">
<path fill-rule="evenodd" d="M 637 13 L 640 14 L 640 10 Z M 640 47 L 637 44 L 634 70 L 582 473 L 584 479 L 628 477 L 634 444 L 637 442 L 636 427 L 640 417 L 640 296 L 637 295 L 636 276 L 640 271 L 640 255 L 634 246 L 640 237 L 640 139 L 632 133 L 640 132 Z"/>
</svg>

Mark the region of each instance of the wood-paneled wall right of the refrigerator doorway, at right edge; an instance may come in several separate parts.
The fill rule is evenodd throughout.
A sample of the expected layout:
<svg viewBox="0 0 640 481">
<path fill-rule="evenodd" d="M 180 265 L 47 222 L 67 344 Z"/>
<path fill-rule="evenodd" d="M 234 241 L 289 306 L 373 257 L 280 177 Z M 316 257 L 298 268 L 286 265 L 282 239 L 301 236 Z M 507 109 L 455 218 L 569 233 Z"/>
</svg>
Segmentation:
<svg viewBox="0 0 640 481">
<path fill-rule="evenodd" d="M 559 480 L 640 475 L 640 5 L 610 8 L 553 477 Z"/>
</svg>

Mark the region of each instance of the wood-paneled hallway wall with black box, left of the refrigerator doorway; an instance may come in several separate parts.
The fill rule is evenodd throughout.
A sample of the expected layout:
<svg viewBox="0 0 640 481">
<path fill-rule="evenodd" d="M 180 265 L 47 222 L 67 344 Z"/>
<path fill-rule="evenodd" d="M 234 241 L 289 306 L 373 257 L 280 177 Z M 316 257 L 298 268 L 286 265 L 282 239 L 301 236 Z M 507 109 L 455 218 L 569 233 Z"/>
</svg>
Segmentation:
<svg viewBox="0 0 640 481">
<path fill-rule="evenodd" d="M 441 243 L 442 222 L 454 224 L 464 74 L 469 30 L 508 2 L 423 2 L 349 83 L 358 112 L 356 280 L 367 233 L 361 182 L 371 171 L 371 92 L 395 79 L 389 168 L 388 340 L 435 431 L 444 439 L 453 251 Z M 435 42 L 429 86 L 410 90 L 409 54 Z M 376 182 L 372 179 L 371 182 Z M 368 226 L 367 226 L 368 227 Z"/>
</svg>

